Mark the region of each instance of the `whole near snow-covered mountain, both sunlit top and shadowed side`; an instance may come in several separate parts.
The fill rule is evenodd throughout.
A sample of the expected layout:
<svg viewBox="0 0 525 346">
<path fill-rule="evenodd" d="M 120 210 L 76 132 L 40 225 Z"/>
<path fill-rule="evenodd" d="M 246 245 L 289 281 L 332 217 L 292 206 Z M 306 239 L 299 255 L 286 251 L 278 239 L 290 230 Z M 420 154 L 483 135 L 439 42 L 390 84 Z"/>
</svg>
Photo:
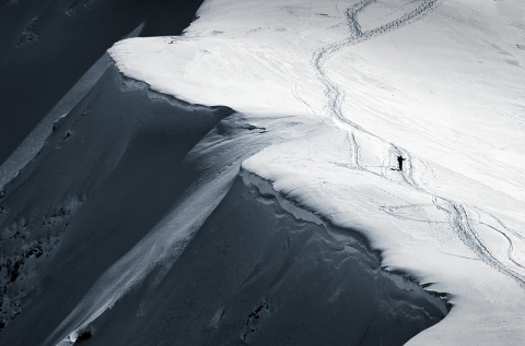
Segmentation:
<svg viewBox="0 0 525 346">
<path fill-rule="evenodd" d="M 520 344 L 523 11 L 207 0 L 116 44 L 2 192 L 0 344 Z"/>
</svg>

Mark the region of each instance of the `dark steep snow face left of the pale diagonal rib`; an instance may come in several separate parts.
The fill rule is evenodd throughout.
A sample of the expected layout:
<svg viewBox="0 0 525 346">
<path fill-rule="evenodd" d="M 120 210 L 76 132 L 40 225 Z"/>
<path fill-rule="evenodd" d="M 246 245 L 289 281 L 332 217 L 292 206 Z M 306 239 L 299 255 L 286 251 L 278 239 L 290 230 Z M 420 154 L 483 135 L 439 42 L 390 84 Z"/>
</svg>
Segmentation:
<svg viewBox="0 0 525 346">
<path fill-rule="evenodd" d="M 115 70 L 106 72 L 4 187 L 1 322 L 9 323 L 31 301 L 22 323 L 28 319 L 42 329 L 15 336 L 2 332 L 0 337 L 8 334 L 0 343 L 42 343 L 43 333 L 59 324 L 91 282 L 159 222 L 174 203 L 172 194 L 186 189 L 192 168 L 182 168 L 180 162 L 231 114 L 156 102 L 144 85 L 135 84 Z M 48 315 L 45 322 L 43 315 Z"/>
</svg>

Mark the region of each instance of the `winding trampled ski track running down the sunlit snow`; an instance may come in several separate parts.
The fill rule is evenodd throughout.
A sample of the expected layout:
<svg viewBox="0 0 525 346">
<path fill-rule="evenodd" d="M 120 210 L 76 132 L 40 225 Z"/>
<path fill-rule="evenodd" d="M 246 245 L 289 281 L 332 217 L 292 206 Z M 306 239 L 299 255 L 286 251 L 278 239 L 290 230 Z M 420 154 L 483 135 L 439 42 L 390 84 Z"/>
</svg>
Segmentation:
<svg viewBox="0 0 525 346">
<path fill-rule="evenodd" d="M 383 140 L 375 135 L 374 133 L 365 130 L 361 126 L 352 122 L 349 120 L 343 111 L 342 111 L 342 104 L 345 102 L 345 91 L 342 91 L 335 82 L 332 82 L 328 76 L 326 72 L 326 63 L 328 60 L 338 51 L 349 48 L 351 46 L 358 45 L 360 43 L 363 43 L 365 40 L 372 39 L 374 37 L 387 34 L 392 31 L 395 31 L 397 28 L 400 28 L 405 25 L 408 25 L 410 23 L 413 23 L 427 14 L 429 14 L 431 11 L 433 11 L 439 4 L 440 0 L 424 0 L 422 3 L 417 7 L 416 9 L 404 13 L 396 20 L 384 24 L 382 26 L 378 26 L 373 29 L 369 31 L 363 31 L 358 16 L 359 14 L 365 10 L 371 4 L 377 2 L 377 0 L 362 0 L 350 8 L 348 8 L 345 11 L 346 20 L 347 20 L 347 25 L 350 29 L 350 36 L 347 38 L 328 44 L 319 49 L 317 49 L 314 52 L 313 59 L 312 59 L 312 64 L 317 73 L 317 77 L 322 82 L 322 84 L 325 87 L 324 94 L 326 96 L 327 100 L 327 106 L 326 110 L 330 118 L 332 118 L 337 123 L 342 124 L 343 128 L 346 128 L 349 131 L 349 142 L 351 145 L 351 154 L 352 154 L 352 165 L 353 167 L 349 167 L 351 169 L 358 169 L 358 170 L 363 170 L 368 171 L 373 175 L 381 176 L 385 179 L 393 180 L 392 178 L 387 177 L 386 172 L 388 167 L 386 165 L 383 165 L 381 168 L 381 174 L 377 174 L 375 171 L 372 171 L 364 167 L 363 165 L 360 164 L 360 145 L 358 143 L 358 140 L 355 138 L 355 133 L 359 133 L 361 135 L 368 136 L 370 139 L 378 140 L 381 141 L 385 147 L 389 147 L 389 153 L 393 153 L 395 156 L 401 155 L 402 157 L 406 158 L 406 170 L 400 172 L 400 178 L 402 179 L 402 182 L 405 184 L 408 184 L 409 187 L 432 195 L 432 201 L 433 205 L 444 212 L 445 214 L 448 215 L 450 217 L 450 226 L 451 228 L 455 231 L 457 237 L 460 239 L 460 241 L 468 248 L 470 249 L 475 254 L 477 254 L 478 259 L 483 261 L 487 265 L 495 269 L 500 273 L 506 275 L 508 277 L 511 277 L 514 279 L 521 287 L 525 288 L 525 276 L 518 272 L 516 272 L 514 269 L 509 267 L 504 263 L 502 263 L 497 255 L 491 251 L 489 244 L 483 242 L 481 239 L 480 235 L 476 231 L 476 228 L 472 225 L 472 220 L 469 217 L 469 212 L 470 210 L 476 211 L 480 215 L 485 215 L 493 220 L 497 225 L 491 225 L 488 223 L 479 222 L 479 225 L 483 225 L 491 230 L 495 231 L 500 236 L 502 236 L 506 243 L 506 259 L 511 263 L 513 263 L 516 269 L 520 270 L 525 270 L 525 265 L 521 264 L 513 258 L 513 250 L 514 250 L 514 243 L 512 238 L 517 238 L 521 241 L 525 242 L 525 238 L 520 235 L 520 232 L 510 229 L 506 227 L 500 219 L 498 219 L 495 216 L 491 215 L 490 213 L 487 213 L 478 207 L 468 207 L 462 203 L 455 202 L 453 200 L 435 195 L 432 193 L 430 190 L 424 188 L 424 182 L 418 183 L 416 181 L 415 177 L 415 170 L 417 166 L 423 166 L 424 169 L 432 169 L 430 165 L 428 165 L 424 162 L 421 162 L 419 159 L 415 159 L 410 153 L 407 151 L 396 146 L 395 144 Z M 418 205 L 412 205 L 413 207 L 418 207 Z M 389 213 L 387 210 L 385 210 L 386 213 Z M 389 213 L 392 215 L 392 212 Z M 434 224 L 438 222 L 433 222 Z M 512 237 L 510 236 L 512 235 Z"/>
</svg>

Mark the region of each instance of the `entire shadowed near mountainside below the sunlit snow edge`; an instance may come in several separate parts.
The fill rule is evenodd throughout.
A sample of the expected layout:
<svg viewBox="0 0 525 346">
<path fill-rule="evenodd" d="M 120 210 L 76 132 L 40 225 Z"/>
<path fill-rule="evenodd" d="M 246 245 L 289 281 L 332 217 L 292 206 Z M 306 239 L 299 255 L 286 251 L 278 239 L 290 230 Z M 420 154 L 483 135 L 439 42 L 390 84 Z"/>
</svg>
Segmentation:
<svg viewBox="0 0 525 346">
<path fill-rule="evenodd" d="M 109 68 L 5 187 L 0 344 L 400 345 L 436 323 L 445 302 L 359 232 L 238 176 L 320 127 L 188 105 Z"/>
</svg>

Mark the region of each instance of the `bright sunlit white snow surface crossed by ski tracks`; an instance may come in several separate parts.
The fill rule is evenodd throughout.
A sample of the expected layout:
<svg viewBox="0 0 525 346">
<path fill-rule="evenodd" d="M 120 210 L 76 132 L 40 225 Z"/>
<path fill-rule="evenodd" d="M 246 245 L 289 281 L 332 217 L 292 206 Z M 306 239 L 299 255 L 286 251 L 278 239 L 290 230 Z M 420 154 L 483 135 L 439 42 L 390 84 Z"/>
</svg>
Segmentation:
<svg viewBox="0 0 525 346">
<path fill-rule="evenodd" d="M 109 55 L 190 103 L 319 117 L 242 170 L 450 294 L 450 314 L 409 345 L 522 343 L 523 2 L 207 0 L 198 16 Z"/>
</svg>

